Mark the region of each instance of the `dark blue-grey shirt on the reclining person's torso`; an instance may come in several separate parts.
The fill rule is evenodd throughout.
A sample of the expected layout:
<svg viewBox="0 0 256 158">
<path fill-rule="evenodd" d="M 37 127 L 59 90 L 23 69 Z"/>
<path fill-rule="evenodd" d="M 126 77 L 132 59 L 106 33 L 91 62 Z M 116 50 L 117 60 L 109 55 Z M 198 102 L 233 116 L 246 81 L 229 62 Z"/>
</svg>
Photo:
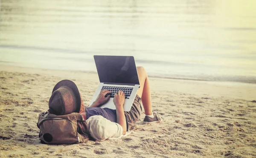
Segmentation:
<svg viewBox="0 0 256 158">
<path fill-rule="evenodd" d="M 105 108 L 101 108 L 101 107 L 86 107 L 85 111 L 86 111 L 86 118 L 89 118 L 90 116 L 94 116 L 94 115 L 101 115 L 104 118 L 107 118 L 108 120 L 110 120 L 112 122 L 116 122 L 116 110 L 109 109 L 107 107 L 105 107 Z M 127 118 L 125 117 L 125 119 L 126 119 L 127 131 L 128 131 Z"/>
</svg>

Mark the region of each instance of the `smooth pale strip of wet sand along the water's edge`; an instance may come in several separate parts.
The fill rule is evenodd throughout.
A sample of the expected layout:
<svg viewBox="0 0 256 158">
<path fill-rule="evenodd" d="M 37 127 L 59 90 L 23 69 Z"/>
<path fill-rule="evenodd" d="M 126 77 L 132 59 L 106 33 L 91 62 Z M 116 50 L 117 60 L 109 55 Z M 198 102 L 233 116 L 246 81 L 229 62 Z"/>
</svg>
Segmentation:
<svg viewBox="0 0 256 158">
<path fill-rule="evenodd" d="M 24 68 L 6 65 L 0 65 L 0 71 L 43 74 L 47 76 L 56 76 L 70 80 L 84 79 L 86 80 L 86 82 L 99 84 L 99 78 L 97 73 L 91 72 Z M 248 101 L 256 100 L 254 95 L 256 94 L 256 84 L 251 83 L 198 81 L 186 79 L 158 78 L 150 76 L 149 79 L 153 82 L 161 82 L 161 84 L 158 85 L 151 85 L 151 90 L 153 91 L 173 91 L 178 93 L 190 93 L 201 96 L 230 97 L 236 99 L 245 99 Z"/>
</svg>

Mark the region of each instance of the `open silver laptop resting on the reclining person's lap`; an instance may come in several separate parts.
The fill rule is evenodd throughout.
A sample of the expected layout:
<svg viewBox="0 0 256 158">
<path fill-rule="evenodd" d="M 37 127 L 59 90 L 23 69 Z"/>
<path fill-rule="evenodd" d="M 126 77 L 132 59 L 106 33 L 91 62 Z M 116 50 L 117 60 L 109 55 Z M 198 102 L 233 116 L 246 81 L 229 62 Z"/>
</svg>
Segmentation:
<svg viewBox="0 0 256 158">
<path fill-rule="evenodd" d="M 113 97 L 122 90 L 125 93 L 124 111 L 130 111 L 140 87 L 139 77 L 133 56 L 94 56 L 99 75 L 99 86 L 90 105 L 96 100 L 101 90 L 112 92 L 110 99 L 101 107 L 116 109 Z"/>
</svg>

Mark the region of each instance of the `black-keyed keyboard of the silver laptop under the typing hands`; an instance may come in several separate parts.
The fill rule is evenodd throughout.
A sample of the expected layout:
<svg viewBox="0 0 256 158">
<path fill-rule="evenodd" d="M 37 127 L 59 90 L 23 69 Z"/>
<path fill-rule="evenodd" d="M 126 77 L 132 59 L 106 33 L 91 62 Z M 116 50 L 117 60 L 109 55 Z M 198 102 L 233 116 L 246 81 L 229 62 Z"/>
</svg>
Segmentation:
<svg viewBox="0 0 256 158">
<path fill-rule="evenodd" d="M 111 98 L 115 96 L 115 94 L 121 90 L 125 93 L 125 99 L 129 99 L 131 96 L 131 92 L 133 90 L 133 87 L 118 87 L 118 86 L 103 86 L 102 90 L 109 90 L 111 91 Z"/>
</svg>

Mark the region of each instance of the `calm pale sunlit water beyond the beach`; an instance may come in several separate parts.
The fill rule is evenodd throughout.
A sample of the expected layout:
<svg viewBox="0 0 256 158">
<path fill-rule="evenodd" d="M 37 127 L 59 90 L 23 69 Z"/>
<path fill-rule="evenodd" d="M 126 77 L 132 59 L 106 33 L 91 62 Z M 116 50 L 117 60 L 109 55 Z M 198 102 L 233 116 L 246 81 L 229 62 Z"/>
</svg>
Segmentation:
<svg viewBox="0 0 256 158">
<path fill-rule="evenodd" d="M 96 71 L 134 56 L 150 76 L 256 83 L 255 0 L 1 0 L 0 64 Z"/>
</svg>

